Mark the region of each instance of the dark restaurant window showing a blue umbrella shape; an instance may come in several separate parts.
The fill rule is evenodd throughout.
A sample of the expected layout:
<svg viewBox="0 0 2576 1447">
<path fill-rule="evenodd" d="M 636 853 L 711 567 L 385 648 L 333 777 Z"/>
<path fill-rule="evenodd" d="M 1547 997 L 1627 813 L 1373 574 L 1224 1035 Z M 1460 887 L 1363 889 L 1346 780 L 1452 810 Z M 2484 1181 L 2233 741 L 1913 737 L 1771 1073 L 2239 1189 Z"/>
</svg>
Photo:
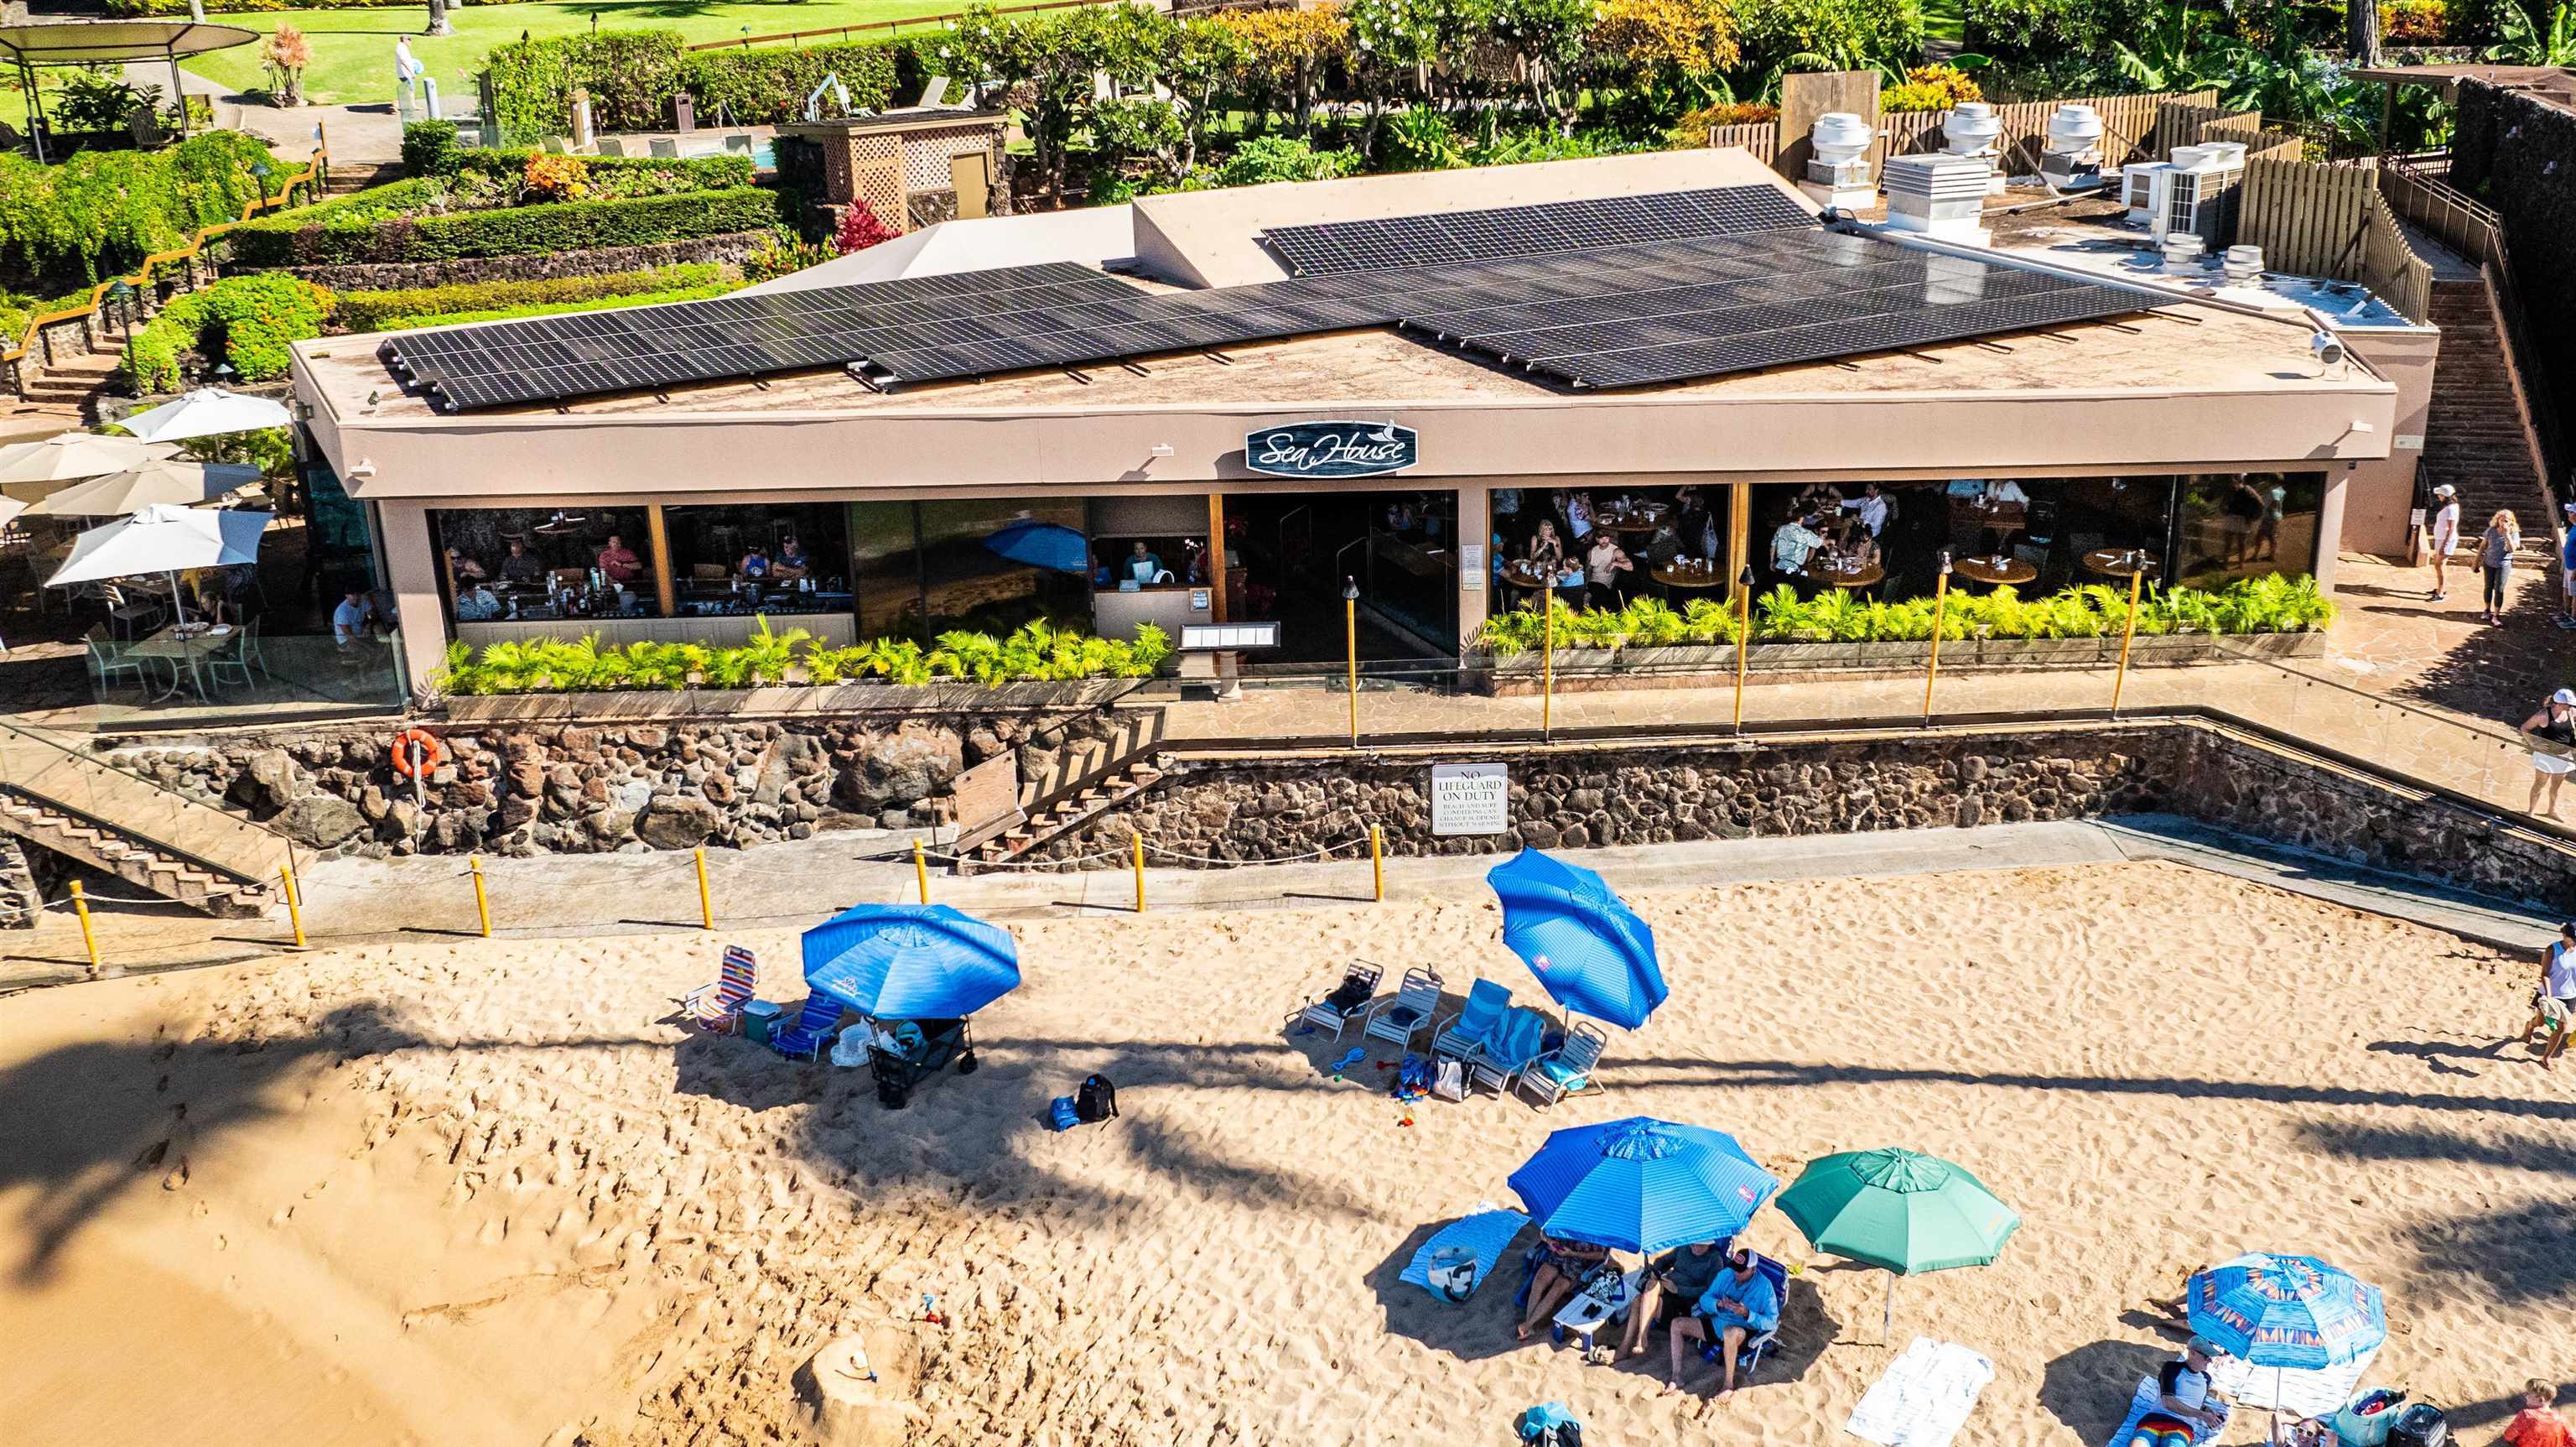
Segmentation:
<svg viewBox="0 0 2576 1447">
<path fill-rule="evenodd" d="M 863 639 L 1005 636 L 1038 618 L 1090 631 L 1079 499 L 853 502 L 848 518 Z"/>
</svg>

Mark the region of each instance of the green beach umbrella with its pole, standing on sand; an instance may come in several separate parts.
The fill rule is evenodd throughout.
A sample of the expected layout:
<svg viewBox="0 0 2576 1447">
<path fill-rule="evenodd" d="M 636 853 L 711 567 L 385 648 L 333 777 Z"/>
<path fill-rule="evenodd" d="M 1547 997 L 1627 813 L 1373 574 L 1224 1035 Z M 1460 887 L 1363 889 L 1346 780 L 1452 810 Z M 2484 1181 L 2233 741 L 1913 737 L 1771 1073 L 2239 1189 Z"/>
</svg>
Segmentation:
<svg viewBox="0 0 2576 1447">
<path fill-rule="evenodd" d="M 1777 1205 L 1819 1251 L 1893 1272 L 1878 1336 L 1896 1316 L 1896 1277 L 1984 1267 L 2022 1218 L 1965 1169 L 1919 1151 L 1842 1151 L 1808 1161 Z"/>
</svg>

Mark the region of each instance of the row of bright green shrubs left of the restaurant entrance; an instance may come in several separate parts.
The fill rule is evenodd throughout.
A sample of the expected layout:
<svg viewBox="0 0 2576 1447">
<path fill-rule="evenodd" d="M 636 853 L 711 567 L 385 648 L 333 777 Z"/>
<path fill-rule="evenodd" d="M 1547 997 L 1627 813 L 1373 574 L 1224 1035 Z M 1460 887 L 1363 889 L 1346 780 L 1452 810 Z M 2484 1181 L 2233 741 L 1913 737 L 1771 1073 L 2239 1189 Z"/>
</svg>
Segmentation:
<svg viewBox="0 0 2576 1447">
<path fill-rule="evenodd" d="M 1170 657 L 1170 636 L 1151 623 L 1136 631 L 1133 644 L 1092 639 L 1038 621 L 1007 639 L 940 633 L 930 649 L 912 639 L 873 639 L 832 649 L 804 628 L 773 633 L 770 621 L 757 618 L 752 636 L 732 649 L 703 644 L 600 646 L 595 636 L 585 636 L 489 644 L 477 651 L 471 644 L 456 641 L 448 644 L 435 687 L 448 695 L 760 687 L 796 682 L 799 675 L 814 685 L 873 677 L 894 685 L 961 680 L 997 687 L 1005 682 L 1151 677 Z"/>
</svg>

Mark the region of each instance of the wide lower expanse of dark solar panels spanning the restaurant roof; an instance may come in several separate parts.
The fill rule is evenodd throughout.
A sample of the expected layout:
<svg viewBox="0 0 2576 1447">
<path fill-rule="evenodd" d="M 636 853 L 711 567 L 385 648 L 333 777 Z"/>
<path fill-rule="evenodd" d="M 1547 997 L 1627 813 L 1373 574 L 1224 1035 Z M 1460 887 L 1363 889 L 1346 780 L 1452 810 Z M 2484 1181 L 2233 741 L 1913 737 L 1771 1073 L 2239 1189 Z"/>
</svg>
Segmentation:
<svg viewBox="0 0 2576 1447">
<path fill-rule="evenodd" d="M 1453 237 L 1577 234 L 1551 229 L 1553 219 L 1533 221 L 1533 211 L 1551 209 L 1520 209 L 1481 232 L 1455 227 L 1458 216 L 1432 219 Z M 2161 294 L 2133 286 L 1819 232 L 1801 214 L 1795 229 L 1172 294 L 1048 263 L 404 332 L 381 353 L 438 407 L 471 409 L 829 366 L 848 366 L 871 386 L 958 381 L 1401 324 L 1571 386 L 1646 386 L 2053 327 L 2159 301 Z"/>
</svg>

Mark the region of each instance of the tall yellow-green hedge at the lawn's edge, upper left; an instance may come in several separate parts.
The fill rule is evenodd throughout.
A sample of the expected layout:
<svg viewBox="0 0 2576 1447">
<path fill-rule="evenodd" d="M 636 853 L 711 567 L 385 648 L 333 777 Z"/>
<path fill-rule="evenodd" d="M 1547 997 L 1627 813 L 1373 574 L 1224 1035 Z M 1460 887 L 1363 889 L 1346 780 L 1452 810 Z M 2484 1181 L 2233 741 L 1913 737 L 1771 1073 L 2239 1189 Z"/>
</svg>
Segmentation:
<svg viewBox="0 0 2576 1447">
<path fill-rule="evenodd" d="M 533 142 L 572 129 L 574 88 L 590 90 L 590 121 L 611 134 L 665 129 L 680 90 L 696 103 L 701 126 L 714 124 L 719 108 L 737 126 L 796 121 L 824 75 L 840 75 L 850 106 L 884 108 L 907 72 L 917 77 L 909 57 L 907 39 L 690 51 L 680 31 L 598 31 L 495 46 L 484 70 L 502 136 Z"/>
</svg>

